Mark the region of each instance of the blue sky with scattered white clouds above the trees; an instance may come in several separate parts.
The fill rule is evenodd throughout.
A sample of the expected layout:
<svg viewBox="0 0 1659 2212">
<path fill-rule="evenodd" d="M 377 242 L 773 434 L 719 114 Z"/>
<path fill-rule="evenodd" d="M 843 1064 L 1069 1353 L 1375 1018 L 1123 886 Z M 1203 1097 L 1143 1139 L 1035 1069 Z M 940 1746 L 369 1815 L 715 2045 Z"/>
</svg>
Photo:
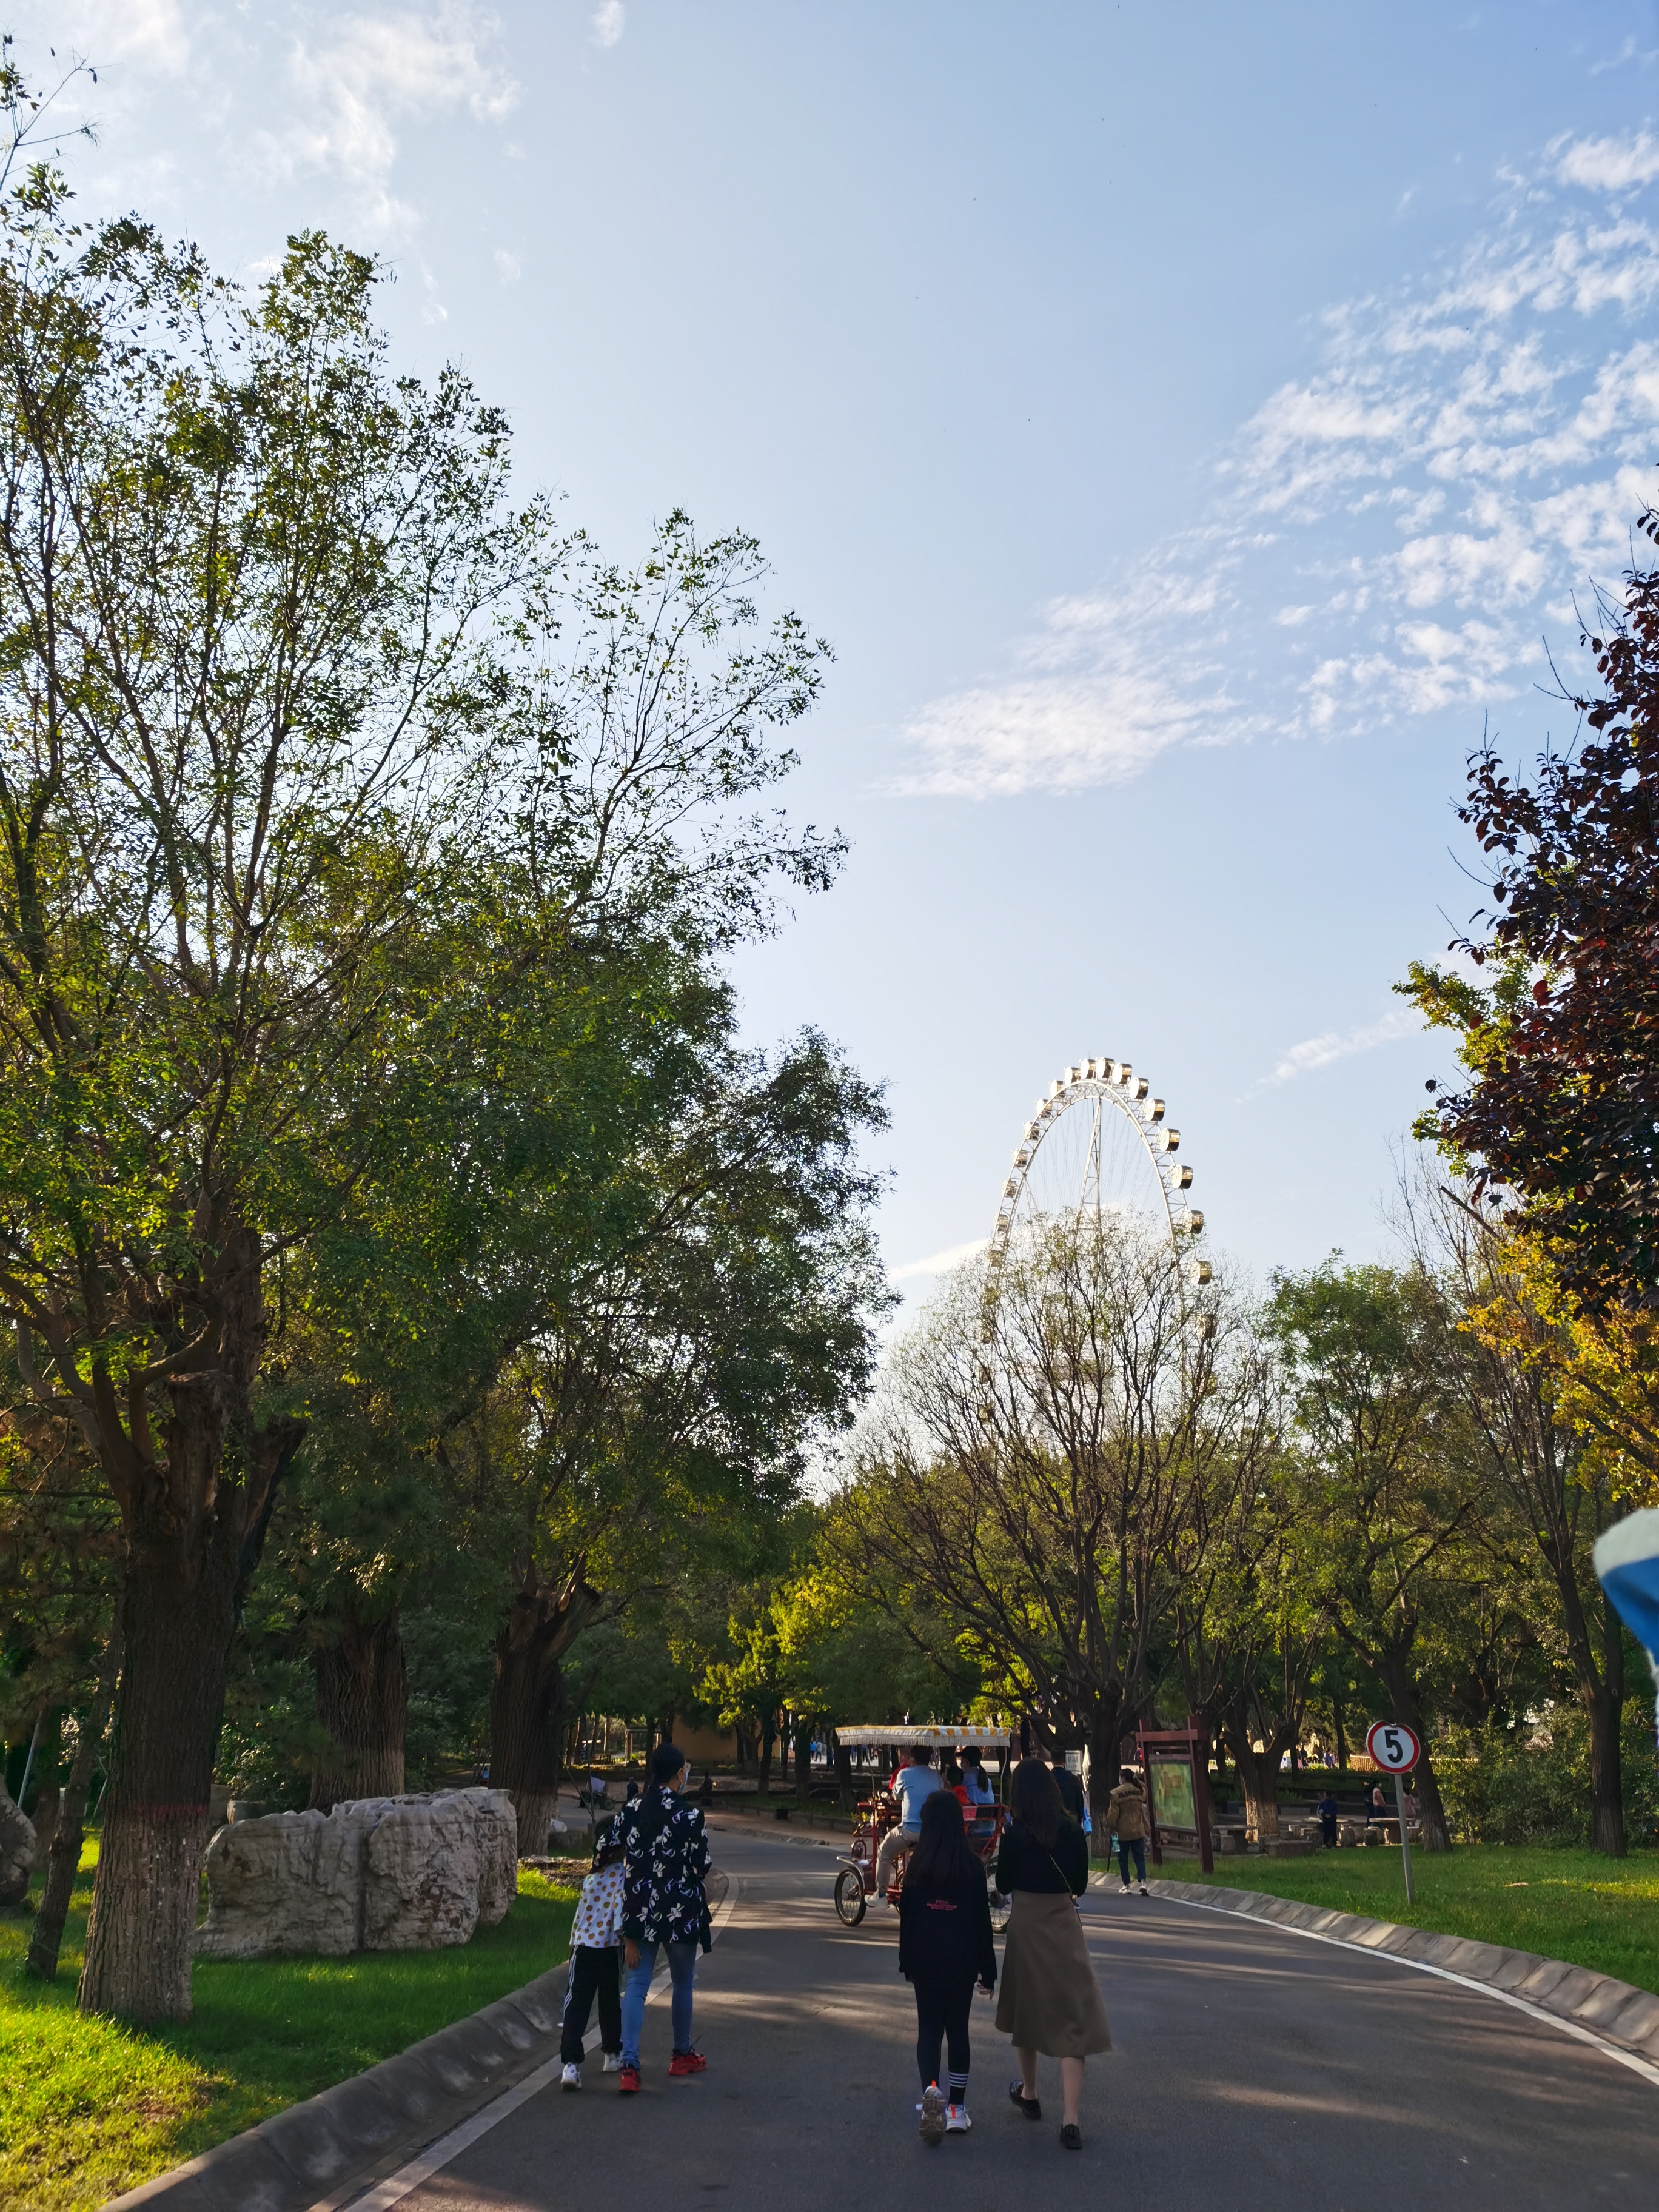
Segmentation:
<svg viewBox="0 0 1659 2212">
<path fill-rule="evenodd" d="M 743 1026 L 885 1082 L 909 1301 L 1091 1055 L 1245 1272 L 1387 1250 L 1464 757 L 1571 741 L 1659 489 L 1655 0 L 9 20 L 97 69 L 86 212 L 250 283 L 374 250 L 396 365 L 465 363 L 608 553 L 759 535 L 836 650 L 790 803 L 852 854 Z"/>
</svg>

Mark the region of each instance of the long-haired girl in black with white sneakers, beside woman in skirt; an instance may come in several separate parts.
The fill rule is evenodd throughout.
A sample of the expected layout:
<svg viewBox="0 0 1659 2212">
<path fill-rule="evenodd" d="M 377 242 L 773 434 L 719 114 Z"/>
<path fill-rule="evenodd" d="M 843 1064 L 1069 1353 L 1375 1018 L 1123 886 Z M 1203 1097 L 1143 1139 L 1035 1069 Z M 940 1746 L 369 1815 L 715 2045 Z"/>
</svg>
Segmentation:
<svg viewBox="0 0 1659 2212">
<path fill-rule="evenodd" d="M 898 1893 L 898 1971 L 916 1991 L 916 2068 L 922 2077 L 922 2141 L 967 2135 L 969 2008 L 973 1984 L 991 1995 L 998 1953 L 984 1867 L 969 1849 L 953 1792 L 922 1805 L 922 1834 Z M 949 2059 L 940 2090 L 940 2051 Z"/>
</svg>

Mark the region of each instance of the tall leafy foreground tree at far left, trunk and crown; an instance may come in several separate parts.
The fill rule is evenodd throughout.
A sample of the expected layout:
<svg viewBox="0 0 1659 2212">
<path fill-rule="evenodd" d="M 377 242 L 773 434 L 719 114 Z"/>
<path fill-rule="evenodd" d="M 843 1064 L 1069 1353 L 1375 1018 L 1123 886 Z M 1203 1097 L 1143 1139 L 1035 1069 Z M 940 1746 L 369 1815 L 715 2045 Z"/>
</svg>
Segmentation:
<svg viewBox="0 0 1659 2212">
<path fill-rule="evenodd" d="M 0 228 L 0 1305 L 126 1540 L 82 2004 L 190 2008 L 234 1608 L 303 1422 L 268 1270 L 394 1137 L 387 962 L 542 557 L 460 378 L 392 385 L 372 265 L 257 303 L 35 173 Z M 453 827 L 453 821 L 451 821 Z"/>
</svg>

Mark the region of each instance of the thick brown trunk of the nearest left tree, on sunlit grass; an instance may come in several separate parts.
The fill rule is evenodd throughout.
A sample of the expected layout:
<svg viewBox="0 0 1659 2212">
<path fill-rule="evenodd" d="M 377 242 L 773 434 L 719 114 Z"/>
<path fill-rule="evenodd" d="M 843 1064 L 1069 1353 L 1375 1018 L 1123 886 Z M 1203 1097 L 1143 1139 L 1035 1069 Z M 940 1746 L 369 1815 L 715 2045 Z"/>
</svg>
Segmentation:
<svg viewBox="0 0 1659 2212">
<path fill-rule="evenodd" d="M 157 1500 L 159 1506 L 159 1500 Z M 212 1754 L 237 1626 L 239 1544 L 215 1515 L 197 1544 L 155 1515 L 131 1540 L 126 1661 L 86 1922 L 82 2013 L 188 2020 Z"/>
</svg>

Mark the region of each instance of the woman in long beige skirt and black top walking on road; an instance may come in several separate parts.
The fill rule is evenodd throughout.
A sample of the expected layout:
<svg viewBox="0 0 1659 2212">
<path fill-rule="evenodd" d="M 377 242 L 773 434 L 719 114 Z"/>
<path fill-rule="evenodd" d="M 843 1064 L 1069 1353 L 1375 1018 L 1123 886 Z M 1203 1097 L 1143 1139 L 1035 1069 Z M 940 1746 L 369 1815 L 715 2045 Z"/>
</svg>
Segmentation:
<svg viewBox="0 0 1659 2212">
<path fill-rule="evenodd" d="M 1075 1905 L 1088 1889 L 1088 1843 L 1064 1816 L 1042 1759 L 1022 1759 L 1013 1770 L 1013 1818 L 998 1851 L 998 1889 L 1013 1896 L 998 1993 L 998 2026 L 1013 2037 L 1020 2062 L 1009 2097 L 1026 2119 L 1042 2119 L 1037 2053 L 1060 2059 L 1060 2141 L 1082 2150 L 1084 2059 L 1091 2051 L 1110 2051 L 1113 2031 Z"/>
</svg>

